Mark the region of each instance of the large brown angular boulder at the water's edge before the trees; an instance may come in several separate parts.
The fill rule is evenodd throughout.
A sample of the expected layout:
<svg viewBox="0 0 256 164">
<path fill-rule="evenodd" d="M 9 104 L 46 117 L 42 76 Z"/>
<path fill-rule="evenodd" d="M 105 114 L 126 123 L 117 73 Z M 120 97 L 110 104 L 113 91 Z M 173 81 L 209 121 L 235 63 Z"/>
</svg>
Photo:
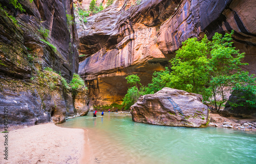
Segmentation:
<svg viewBox="0 0 256 164">
<path fill-rule="evenodd" d="M 131 109 L 134 122 L 195 128 L 206 127 L 209 114 L 201 95 L 172 88 L 141 96 Z"/>
</svg>

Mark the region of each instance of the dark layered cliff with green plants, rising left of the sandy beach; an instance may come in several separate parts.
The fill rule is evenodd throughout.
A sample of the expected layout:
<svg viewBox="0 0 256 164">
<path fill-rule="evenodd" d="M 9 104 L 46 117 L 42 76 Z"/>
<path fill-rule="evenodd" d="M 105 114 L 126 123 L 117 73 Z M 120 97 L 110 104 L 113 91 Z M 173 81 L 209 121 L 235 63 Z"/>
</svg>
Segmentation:
<svg viewBox="0 0 256 164">
<path fill-rule="evenodd" d="M 66 113 L 75 109 L 62 81 L 78 71 L 78 35 L 69 19 L 73 2 L 18 2 L 25 12 L 1 1 L 0 124 L 4 107 L 9 125 L 65 122 Z"/>
</svg>

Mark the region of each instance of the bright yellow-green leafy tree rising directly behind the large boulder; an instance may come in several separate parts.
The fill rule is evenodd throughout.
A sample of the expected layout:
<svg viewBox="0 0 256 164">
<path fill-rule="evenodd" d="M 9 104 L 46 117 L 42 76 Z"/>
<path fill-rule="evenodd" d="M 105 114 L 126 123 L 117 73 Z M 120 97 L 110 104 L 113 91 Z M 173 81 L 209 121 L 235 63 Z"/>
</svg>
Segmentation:
<svg viewBox="0 0 256 164">
<path fill-rule="evenodd" d="M 195 93 L 202 92 L 209 79 L 207 41 L 205 36 L 202 41 L 189 38 L 182 43 L 182 49 L 179 49 L 176 57 L 170 60 L 173 65 L 171 87 Z"/>
</svg>

